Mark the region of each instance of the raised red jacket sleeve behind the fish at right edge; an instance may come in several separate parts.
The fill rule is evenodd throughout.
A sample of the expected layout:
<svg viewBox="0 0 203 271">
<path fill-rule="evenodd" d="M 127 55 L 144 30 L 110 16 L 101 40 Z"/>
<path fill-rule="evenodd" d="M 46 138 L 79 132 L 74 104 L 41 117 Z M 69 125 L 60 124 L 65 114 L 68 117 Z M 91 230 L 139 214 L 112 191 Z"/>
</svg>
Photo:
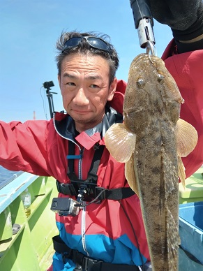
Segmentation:
<svg viewBox="0 0 203 271">
<path fill-rule="evenodd" d="M 170 56 L 173 46 L 174 41 L 168 45 L 163 54 L 165 66 L 172 74 L 185 101 L 181 105 L 180 117 L 192 124 L 198 133 L 195 149 L 182 159 L 186 177 L 189 177 L 203 164 L 203 50 Z"/>
</svg>

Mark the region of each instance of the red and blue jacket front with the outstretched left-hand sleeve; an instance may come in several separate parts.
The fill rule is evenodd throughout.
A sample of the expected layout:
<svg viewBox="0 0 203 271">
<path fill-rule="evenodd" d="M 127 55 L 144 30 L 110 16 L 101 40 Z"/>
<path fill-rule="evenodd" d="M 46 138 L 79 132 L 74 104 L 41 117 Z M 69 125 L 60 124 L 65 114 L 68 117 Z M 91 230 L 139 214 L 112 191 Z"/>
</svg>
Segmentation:
<svg viewBox="0 0 203 271">
<path fill-rule="evenodd" d="M 119 81 L 112 106 L 122 111 L 123 91 L 126 83 Z M 120 92 L 121 91 L 121 92 Z M 122 115 L 108 110 L 103 119 L 105 129 L 114 122 L 122 122 Z M 105 122 L 105 123 L 104 123 Z M 98 129 L 99 130 L 99 129 Z M 24 170 L 36 175 L 52 175 L 59 182 L 70 182 L 67 176 L 68 138 L 75 138 L 75 155 L 83 149 L 82 159 L 75 160 L 75 173 L 86 180 L 93 154 L 98 142 L 105 145 L 100 131 L 87 131 L 74 135 L 73 119 L 57 113 L 54 121 L 0 122 L 0 164 L 10 170 Z M 9 138 L 9 140 L 8 140 Z M 115 161 L 107 149 L 104 149 L 98 167 L 97 186 L 106 189 L 129 187 L 124 177 L 124 164 Z M 65 197 L 59 193 L 59 197 Z M 74 198 L 74 197 L 73 197 Z M 66 244 L 91 258 L 102 259 L 110 263 L 142 265 L 149 260 L 149 250 L 144 232 L 140 200 L 136 195 L 121 200 L 126 217 L 118 200 L 103 200 L 92 203 L 80 210 L 76 217 L 59 217 L 57 226 L 61 238 Z M 139 244 L 137 244 L 137 240 Z M 55 270 L 65 270 L 61 254 L 54 255 Z M 141 258 L 142 257 L 142 260 Z M 73 263 L 71 263 L 73 265 Z M 66 268 L 70 263 L 66 263 Z M 71 269 L 72 270 L 72 269 Z"/>
</svg>

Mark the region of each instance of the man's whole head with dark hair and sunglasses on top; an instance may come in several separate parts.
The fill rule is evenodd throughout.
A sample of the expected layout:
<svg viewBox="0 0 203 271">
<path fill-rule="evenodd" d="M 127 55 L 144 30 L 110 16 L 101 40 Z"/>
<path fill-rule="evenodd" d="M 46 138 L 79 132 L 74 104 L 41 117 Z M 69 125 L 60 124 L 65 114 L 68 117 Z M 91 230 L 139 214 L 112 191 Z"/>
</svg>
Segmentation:
<svg viewBox="0 0 203 271">
<path fill-rule="evenodd" d="M 57 42 L 63 107 L 82 132 L 99 124 L 116 90 L 119 65 L 114 47 L 91 33 L 61 34 Z"/>
</svg>

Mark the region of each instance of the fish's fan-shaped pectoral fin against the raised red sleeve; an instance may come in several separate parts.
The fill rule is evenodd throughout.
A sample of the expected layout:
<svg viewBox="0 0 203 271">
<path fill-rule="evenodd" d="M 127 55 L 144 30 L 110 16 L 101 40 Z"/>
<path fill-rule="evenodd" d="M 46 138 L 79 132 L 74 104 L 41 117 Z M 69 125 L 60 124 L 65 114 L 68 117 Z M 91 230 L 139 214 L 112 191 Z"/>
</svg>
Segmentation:
<svg viewBox="0 0 203 271">
<path fill-rule="evenodd" d="M 198 135 L 195 128 L 184 121 L 179 119 L 176 123 L 176 142 L 177 153 L 181 157 L 186 157 L 190 152 L 195 149 L 197 145 Z"/>
</svg>

